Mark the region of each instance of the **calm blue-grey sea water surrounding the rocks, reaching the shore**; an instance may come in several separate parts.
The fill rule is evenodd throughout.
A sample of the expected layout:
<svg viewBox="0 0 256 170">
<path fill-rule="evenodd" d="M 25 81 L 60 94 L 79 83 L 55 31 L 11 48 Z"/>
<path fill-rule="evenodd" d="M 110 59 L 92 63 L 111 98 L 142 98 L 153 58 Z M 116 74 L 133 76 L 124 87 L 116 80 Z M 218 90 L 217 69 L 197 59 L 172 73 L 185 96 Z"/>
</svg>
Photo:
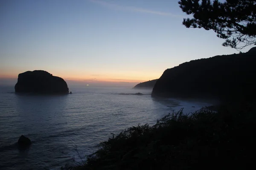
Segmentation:
<svg viewBox="0 0 256 170">
<path fill-rule="evenodd" d="M 177 99 L 156 100 L 151 91 L 110 87 L 70 87 L 65 96 L 17 95 L 0 86 L 0 169 L 55 170 L 81 161 L 101 141 L 137 124 L 184 108 L 185 113 L 210 104 Z M 132 95 L 134 93 L 145 95 Z M 127 94 L 127 95 L 123 95 Z M 193 106 L 193 107 L 192 107 Z M 18 150 L 21 135 L 28 150 Z M 79 154 L 78 154 L 78 152 Z"/>
</svg>

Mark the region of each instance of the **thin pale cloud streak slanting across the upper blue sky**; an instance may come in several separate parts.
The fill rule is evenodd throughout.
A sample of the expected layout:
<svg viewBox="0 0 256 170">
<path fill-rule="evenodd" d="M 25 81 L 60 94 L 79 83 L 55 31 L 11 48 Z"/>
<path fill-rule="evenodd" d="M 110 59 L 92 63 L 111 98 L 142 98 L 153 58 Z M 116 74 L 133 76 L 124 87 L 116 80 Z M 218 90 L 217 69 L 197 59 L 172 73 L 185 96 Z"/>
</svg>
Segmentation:
<svg viewBox="0 0 256 170">
<path fill-rule="evenodd" d="M 105 6 L 108 8 L 113 8 L 115 10 L 122 10 L 122 11 L 133 11 L 133 12 L 140 12 L 140 13 L 147 13 L 147 14 L 156 14 L 156 15 L 162 15 L 162 16 L 169 16 L 169 17 L 182 17 L 181 15 L 175 15 L 172 14 L 171 12 L 162 12 L 162 11 L 154 11 L 150 9 L 145 9 L 145 8 L 137 8 L 133 6 L 119 6 L 113 3 L 107 3 L 105 1 L 101 0 L 89 0 L 90 2 L 97 3 L 101 6 Z"/>
</svg>

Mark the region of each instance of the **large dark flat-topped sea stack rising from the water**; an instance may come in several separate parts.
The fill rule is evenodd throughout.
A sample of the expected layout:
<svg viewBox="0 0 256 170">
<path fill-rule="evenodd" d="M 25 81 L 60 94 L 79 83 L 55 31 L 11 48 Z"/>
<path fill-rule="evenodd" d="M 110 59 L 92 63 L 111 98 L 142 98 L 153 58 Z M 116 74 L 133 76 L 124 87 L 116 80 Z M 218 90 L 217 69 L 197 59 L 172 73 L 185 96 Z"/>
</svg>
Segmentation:
<svg viewBox="0 0 256 170">
<path fill-rule="evenodd" d="M 68 94 L 67 83 L 61 77 L 52 76 L 47 71 L 35 70 L 19 74 L 15 85 L 17 93 Z"/>
</svg>

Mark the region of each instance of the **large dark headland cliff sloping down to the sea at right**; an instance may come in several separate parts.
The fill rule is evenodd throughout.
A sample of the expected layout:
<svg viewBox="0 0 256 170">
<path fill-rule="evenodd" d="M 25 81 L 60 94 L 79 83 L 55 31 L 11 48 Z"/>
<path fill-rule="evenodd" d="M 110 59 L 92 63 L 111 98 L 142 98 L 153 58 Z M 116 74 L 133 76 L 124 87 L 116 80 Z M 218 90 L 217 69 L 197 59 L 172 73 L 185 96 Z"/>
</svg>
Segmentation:
<svg viewBox="0 0 256 170">
<path fill-rule="evenodd" d="M 256 47 L 247 53 L 215 56 L 169 68 L 157 80 L 152 96 L 209 99 L 254 99 Z"/>
</svg>

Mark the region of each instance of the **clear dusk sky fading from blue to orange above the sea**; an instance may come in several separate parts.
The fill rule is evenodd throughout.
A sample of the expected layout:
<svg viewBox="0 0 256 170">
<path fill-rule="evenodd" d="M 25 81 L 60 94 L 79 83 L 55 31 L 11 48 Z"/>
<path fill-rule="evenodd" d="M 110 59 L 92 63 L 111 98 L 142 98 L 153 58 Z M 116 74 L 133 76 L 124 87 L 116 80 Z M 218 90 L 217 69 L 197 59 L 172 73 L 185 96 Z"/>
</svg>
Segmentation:
<svg viewBox="0 0 256 170">
<path fill-rule="evenodd" d="M 0 83 L 45 70 L 133 86 L 183 62 L 239 52 L 214 31 L 186 28 L 186 17 L 178 0 L 1 0 Z"/>
</svg>

